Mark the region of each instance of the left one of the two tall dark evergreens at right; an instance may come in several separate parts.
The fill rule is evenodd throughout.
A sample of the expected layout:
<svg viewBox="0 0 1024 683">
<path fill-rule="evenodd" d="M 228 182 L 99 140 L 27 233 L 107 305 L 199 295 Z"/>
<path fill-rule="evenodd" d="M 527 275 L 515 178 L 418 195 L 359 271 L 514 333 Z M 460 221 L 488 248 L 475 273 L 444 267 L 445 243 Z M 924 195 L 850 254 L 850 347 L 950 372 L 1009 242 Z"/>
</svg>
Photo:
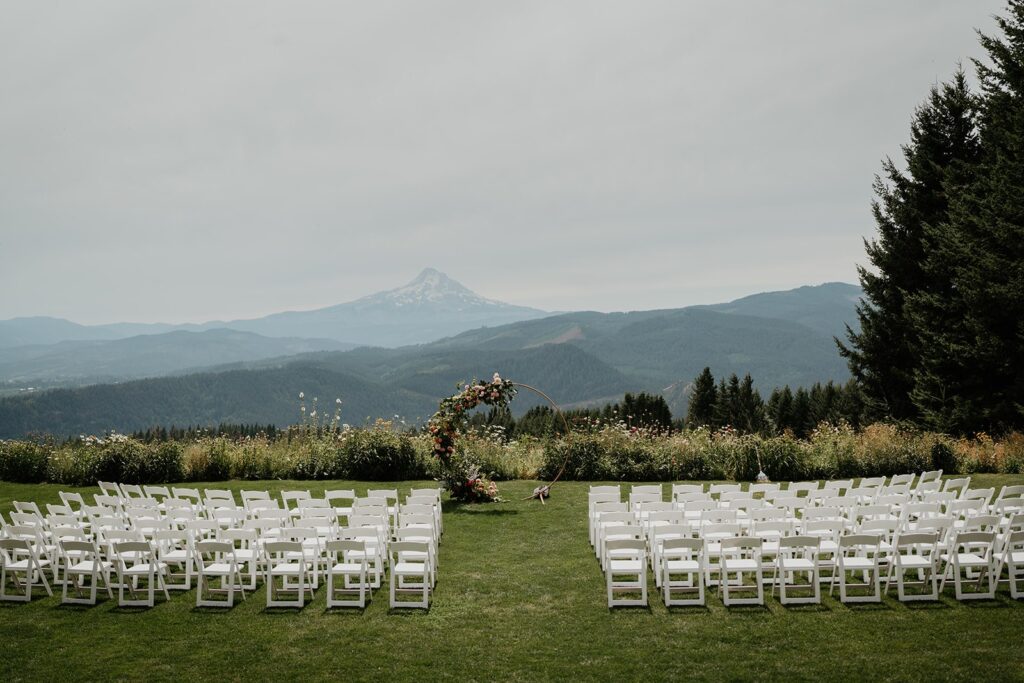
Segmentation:
<svg viewBox="0 0 1024 683">
<path fill-rule="evenodd" d="M 902 152 L 906 171 L 886 160 L 885 180 L 874 180 L 878 199 L 871 209 L 879 237 L 865 241 L 865 250 L 877 272 L 858 266 L 864 291 L 857 306 L 860 331 L 847 328 L 848 343 L 839 346 L 873 417 L 914 419 L 919 408 L 910 394 L 923 347 L 931 342 L 922 337 L 906 302 L 943 289 L 933 282 L 934 269 L 926 267 L 926 231 L 947 219 L 950 183 L 980 155 L 975 98 L 962 71 L 952 83 L 932 88 Z"/>
</svg>

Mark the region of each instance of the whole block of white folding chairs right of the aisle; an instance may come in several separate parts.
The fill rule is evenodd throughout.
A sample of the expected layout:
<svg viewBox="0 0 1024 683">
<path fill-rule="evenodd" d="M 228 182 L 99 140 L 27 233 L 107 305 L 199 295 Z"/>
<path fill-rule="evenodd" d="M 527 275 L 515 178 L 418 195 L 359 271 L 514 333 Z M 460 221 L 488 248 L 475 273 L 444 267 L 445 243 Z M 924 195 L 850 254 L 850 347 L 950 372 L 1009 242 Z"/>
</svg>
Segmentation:
<svg viewBox="0 0 1024 683">
<path fill-rule="evenodd" d="M 930 482 L 929 477 L 923 478 L 926 483 Z M 847 482 L 841 483 L 844 486 L 848 485 Z M 1018 597 L 1018 587 L 1014 583 L 1015 571 L 1024 557 L 1014 555 L 1015 552 L 1019 553 L 1019 549 L 1015 550 L 1013 543 L 1015 539 L 1019 540 L 1019 533 L 1024 531 L 1024 501 L 1020 500 L 1019 493 L 1013 487 L 1005 487 L 996 499 L 998 505 L 987 503 L 991 500 L 990 495 L 987 498 L 985 495 L 973 496 L 972 489 L 968 488 L 961 492 L 962 496 L 955 501 L 928 501 L 927 497 L 933 492 L 926 490 L 924 496 L 919 497 L 910 490 L 904 492 L 899 500 L 888 500 L 883 503 L 877 502 L 877 497 L 858 499 L 850 496 L 843 505 L 836 505 L 836 501 L 829 500 L 828 502 L 834 505 L 792 506 L 787 505 L 787 499 L 782 497 L 768 496 L 767 500 L 757 500 L 752 505 L 750 499 L 730 497 L 729 494 L 732 493 L 730 489 L 713 490 L 715 486 L 728 485 L 730 484 L 712 484 L 705 489 L 701 485 L 695 484 L 693 488 L 677 489 L 674 492 L 675 500 L 672 502 L 636 499 L 636 494 L 641 496 L 656 494 L 655 487 L 657 490 L 662 489 L 657 484 L 634 486 L 630 492 L 632 502 L 622 502 L 618 485 L 592 486 L 588 513 L 590 538 L 595 548 L 595 555 L 606 573 L 609 605 L 622 604 L 613 599 L 613 595 L 622 591 L 634 592 L 641 581 L 644 582 L 641 591 L 643 595 L 633 600 L 643 600 L 646 603 L 645 578 L 648 566 L 653 570 L 658 587 L 664 589 L 669 584 L 678 588 L 677 583 L 665 578 L 665 563 L 678 560 L 683 562 L 680 566 L 689 566 L 688 563 L 697 561 L 697 558 L 684 559 L 672 554 L 666 556 L 665 548 L 675 549 L 676 544 L 687 547 L 701 544 L 705 548 L 699 553 L 703 558 L 699 572 L 702 580 L 693 582 L 691 578 L 691 588 L 699 588 L 699 598 L 702 601 L 705 585 L 718 585 L 724 592 L 729 591 L 729 587 L 726 586 L 729 582 L 721 581 L 720 564 L 716 564 L 716 561 L 727 559 L 721 557 L 722 541 L 726 541 L 727 547 L 734 544 L 738 544 L 737 548 L 745 547 L 744 544 L 748 543 L 759 546 L 756 563 L 759 581 L 756 583 L 760 585 L 764 572 L 790 554 L 784 550 L 780 551 L 780 548 L 791 548 L 793 544 L 800 543 L 792 539 L 817 539 L 820 556 L 815 559 L 815 565 L 818 567 L 815 578 L 820 580 L 821 577 L 825 577 L 835 582 L 837 577 L 840 577 L 841 593 L 845 596 L 846 590 L 842 584 L 846 575 L 837 571 L 836 565 L 837 558 L 842 554 L 841 546 L 851 543 L 848 539 L 858 541 L 865 538 L 877 539 L 878 550 L 871 556 L 878 557 L 880 566 L 895 571 L 896 583 L 902 587 L 903 572 L 898 569 L 902 560 L 896 557 L 899 554 L 897 549 L 901 547 L 900 544 L 909 543 L 909 540 L 914 538 L 932 536 L 934 536 L 935 557 L 946 558 L 944 568 L 952 571 L 951 567 L 963 564 L 962 560 L 965 560 L 964 557 L 959 557 L 963 552 L 953 552 L 959 541 L 975 539 L 977 542 L 978 539 L 987 539 L 986 535 L 991 535 L 989 559 L 993 562 L 997 559 L 1000 564 L 998 571 L 991 566 L 987 571 L 991 575 L 998 577 L 1006 567 L 1011 592 L 1014 597 Z M 676 484 L 676 486 L 690 485 Z M 828 486 L 828 482 L 825 486 Z M 701 490 L 694 490 L 696 487 Z M 857 486 L 852 486 L 851 490 L 856 488 Z M 712 493 L 724 496 L 711 500 L 709 495 Z M 771 489 L 766 492 L 761 488 L 756 493 L 770 494 Z M 970 501 L 980 501 L 980 503 L 965 503 Z M 620 548 L 620 542 L 625 542 L 633 549 L 630 557 L 615 557 L 613 552 L 609 554 L 609 543 L 616 551 L 626 552 Z M 707 544 L 707 547 L 702 544 Z M 916 547 L 918 544 L 913 545 Z M 638 546 L 643 550 L 640 558 L 634 556 Z M 860 544 L 854 546 L 860 551 L 864 550 Z M 954 555 L 956 558 L 950 560 L 949 558 Z M 643 560 L 642 571 L 641 567 L 635 564 L 637 559 Z M 751 558 L 740 559 L 744 560 L 740 564 L 746 565 L 749 563 L 745 560 Z M 623 583 L 615 577 L 620 575 L 616 572 L 626 567 L 631 570 L 636 569 L 636 572 L 632 573 L 631 581 Z M 820 571 L 822 567 L 829 569 L 830 572 L 822 573 Z M 971 569 L 975 570 L 976 568 Z M 937 571 L 938 568 L 935 569 L 935 572 Z M 786 571 L 783 575 L 792 573 Z M 922 570 L 919 573 L 924 575 L 926 572 Z M 888 580 L 891 577 L 887 574 L 886 579 L 888 588 Z M 957 597 L 961 597 L 963 594 L 961 583 L 958 581 L 955 583 Z M 784 594 L 785 588 L 780 588 Z M 902 597 L 904 593 L 902 588 L 899 589 L 899 593 Z M 731 602 L 730 598 L 726 599 Z M 668 596 L 666 600 L 667 603 L 672 603 Z"/>
</svg>

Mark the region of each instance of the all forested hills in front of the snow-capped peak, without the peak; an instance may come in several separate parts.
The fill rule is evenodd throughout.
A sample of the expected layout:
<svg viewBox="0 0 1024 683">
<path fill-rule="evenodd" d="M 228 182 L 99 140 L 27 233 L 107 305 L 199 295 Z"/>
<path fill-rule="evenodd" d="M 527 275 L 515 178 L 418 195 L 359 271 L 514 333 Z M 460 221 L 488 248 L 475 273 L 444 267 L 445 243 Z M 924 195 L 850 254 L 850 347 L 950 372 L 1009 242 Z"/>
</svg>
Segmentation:
<svg viewBox="0 0 1024 683">
<path fill-rule="evenodd" d="M 340 396 L 342 421 L 350 424 L 395 415 L 419 422 L 457 382 L 496 371 L 537 386 L 565 407 L 647 391 L 666 395 L 677 415 L 685 410 L 689 382 L 706 366 L 718 377 L 750 373 L 765 393 L 783 384 L 846 380 L 846 365 L 825 331 L 837 321 L 853 319 L 849 286 L 794 292 L 757 295 L 766 297 L 763 307 L 778 317 L 741 312 L 756 310 L 756 298 L 732 302 L 729 310 L 564 313 L 416 346 L 240 359 L 179 377 L 8 396 L 0 398 L 0 438 L 171 424 L 286 425 L 299 419 L 299 391 L 329 401 L 329 412 Z M 174 357 L 172 349 L 168 353 Z M 513 409 L 522 413 L 538 402 L 524 393 Z"/>
</svg>

